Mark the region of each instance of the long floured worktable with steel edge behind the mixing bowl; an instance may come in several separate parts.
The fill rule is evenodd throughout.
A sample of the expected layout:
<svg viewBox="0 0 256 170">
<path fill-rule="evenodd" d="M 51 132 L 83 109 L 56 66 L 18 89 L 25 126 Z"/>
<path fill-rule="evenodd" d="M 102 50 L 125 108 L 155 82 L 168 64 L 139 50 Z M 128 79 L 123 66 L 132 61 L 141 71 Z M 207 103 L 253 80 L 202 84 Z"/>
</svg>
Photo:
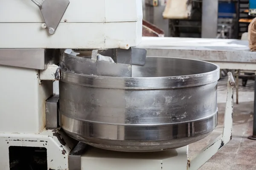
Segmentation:
<svg viewBox="0 0 256 170">
<path fill-rule="evenodd" d="M 221 69 L 255 70 L 256 65 L 256 53 L 245 40 L 143 37 L 138 47 L 147 49 L 148 56 L 204 60 Z"/>
</svg>

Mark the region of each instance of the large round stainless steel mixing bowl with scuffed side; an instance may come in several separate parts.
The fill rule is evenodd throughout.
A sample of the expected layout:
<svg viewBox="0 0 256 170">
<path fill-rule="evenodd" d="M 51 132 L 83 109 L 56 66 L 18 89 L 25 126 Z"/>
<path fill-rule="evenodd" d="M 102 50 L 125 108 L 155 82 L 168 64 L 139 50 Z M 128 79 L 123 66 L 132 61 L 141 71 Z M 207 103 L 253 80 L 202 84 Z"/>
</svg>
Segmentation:
<svg viewBox="0 0 256 170">
<path fill-rule="evenodd" d="M 146 65 L 132 66 L 132 77 L 86 75 L 83 64 L 61 69 L 59 84 L 60 124 L 74 139 L 107 150 L 149 152 L 196 142 L 217 126 L 215 64 L 147 57 Z"/>
</svg>

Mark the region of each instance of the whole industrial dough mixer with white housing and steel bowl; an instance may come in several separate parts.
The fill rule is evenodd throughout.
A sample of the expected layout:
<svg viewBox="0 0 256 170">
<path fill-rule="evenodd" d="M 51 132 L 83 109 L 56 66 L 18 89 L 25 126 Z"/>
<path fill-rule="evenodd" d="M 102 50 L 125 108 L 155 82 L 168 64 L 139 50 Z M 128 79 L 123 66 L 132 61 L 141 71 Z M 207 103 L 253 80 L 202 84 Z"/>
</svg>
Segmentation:
<svg viewBox="0 0 256 170">
<path fill-rule="evenodd" d="M 196 170 L 230 141 L 229 73 L 223 134 L 189 159 L 217 126 L 219 67 L 146 57 L 141 0 L 0 0 L 0 16 L 0 170 Z"/>
</svg>

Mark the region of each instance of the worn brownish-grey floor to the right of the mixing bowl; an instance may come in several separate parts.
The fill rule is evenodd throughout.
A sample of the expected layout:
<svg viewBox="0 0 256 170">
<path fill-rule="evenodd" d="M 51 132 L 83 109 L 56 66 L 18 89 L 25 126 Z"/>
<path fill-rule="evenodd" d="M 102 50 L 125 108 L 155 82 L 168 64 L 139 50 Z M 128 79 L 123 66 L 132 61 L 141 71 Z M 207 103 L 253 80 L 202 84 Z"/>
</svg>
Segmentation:
<svg viewBox="0 0 256 170">
<path fill-rule="evenodd" d="M 189 155 L 193 156 L 210 141 L 222 133 L 224 109 L 227 93 L 227 79 L 218 82 L 218 126 L 201 141 L 189 145 Z M 248 80 L 247 86 L 239 82 L 239 104 L 236 104 L 234 89 L 234 113 L 232 140 L 215 154 L 200 170 L 256 170 L 256 141 L 247 139 L 252 135 L 254 81 Z M 189 157 L 190 157 L 189 156 Z"/>
</svg>

